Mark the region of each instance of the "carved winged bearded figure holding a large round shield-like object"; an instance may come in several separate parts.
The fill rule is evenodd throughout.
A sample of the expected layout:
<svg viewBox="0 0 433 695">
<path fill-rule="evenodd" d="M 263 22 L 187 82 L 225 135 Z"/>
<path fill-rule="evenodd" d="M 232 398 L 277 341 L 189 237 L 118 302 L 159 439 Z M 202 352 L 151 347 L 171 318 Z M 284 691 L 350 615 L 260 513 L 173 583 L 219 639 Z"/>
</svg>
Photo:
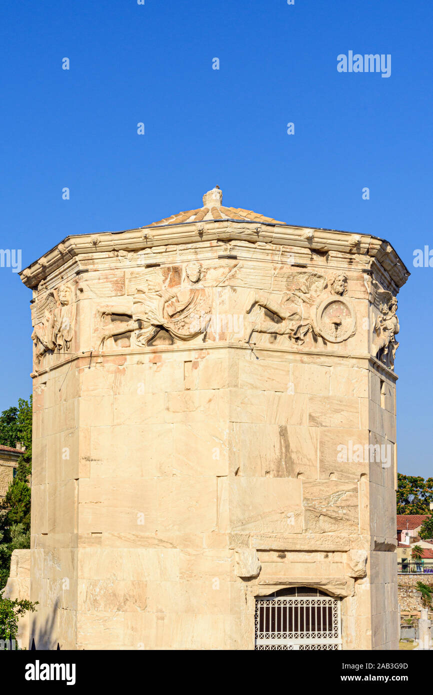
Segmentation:
<svg viewBox="0 0 433 695">
<path fill-rule="evenodd" d="M 341 343 L 354 335 L 356 313 L 351 302 L 343 298 L 348 288 L 345 273 L 326 278 L 316 272 L 295 272 L 286 286 L 288 292 L 281 300 L 262 292 L 250 297 L 247 313 L 254 306 L 264 311 L 256 316 L 247 343 L 254 333 L 286 335 L 296 345 L 302 345 L 309 332 L 331 343 Z"/>
</svg>

